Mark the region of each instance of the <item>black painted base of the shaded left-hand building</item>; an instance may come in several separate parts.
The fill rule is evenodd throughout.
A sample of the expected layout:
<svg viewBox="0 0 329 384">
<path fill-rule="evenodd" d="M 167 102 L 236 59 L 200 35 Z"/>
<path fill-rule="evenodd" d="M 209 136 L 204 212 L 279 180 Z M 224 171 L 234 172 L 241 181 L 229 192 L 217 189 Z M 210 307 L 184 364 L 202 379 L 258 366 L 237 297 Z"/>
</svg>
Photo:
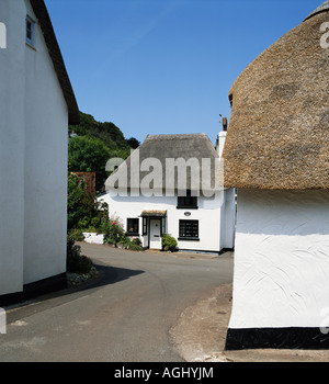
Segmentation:
<svg viewBox="0 0 329 384">
<path fill-rule="evenodd" d="M 66 273 L 44 279 L 23 286 L 22 292 L 0 296 L 0 307 L 18 304 L 47 293 L 57 292 L 67 287 Z"/>
</svg>

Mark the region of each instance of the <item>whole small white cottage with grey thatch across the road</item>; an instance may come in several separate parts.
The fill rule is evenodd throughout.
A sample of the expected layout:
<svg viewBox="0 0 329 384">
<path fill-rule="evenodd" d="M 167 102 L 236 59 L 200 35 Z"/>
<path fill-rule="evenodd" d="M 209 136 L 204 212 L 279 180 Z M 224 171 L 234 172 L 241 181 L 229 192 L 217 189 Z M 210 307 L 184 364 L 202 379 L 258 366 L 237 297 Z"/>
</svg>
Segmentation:
<svg viewBox="0 0 329 384">
<path fill-rule="evenodd" d="M 217 188 L 216 177 L 225 135 L 216 148 L 205 134 L 148 135 L 112 173 L 100 199 L 144 248 L 161 249 L 167 233 L 180 250 L 231 249 L 235 193 Z"/>
</svg>

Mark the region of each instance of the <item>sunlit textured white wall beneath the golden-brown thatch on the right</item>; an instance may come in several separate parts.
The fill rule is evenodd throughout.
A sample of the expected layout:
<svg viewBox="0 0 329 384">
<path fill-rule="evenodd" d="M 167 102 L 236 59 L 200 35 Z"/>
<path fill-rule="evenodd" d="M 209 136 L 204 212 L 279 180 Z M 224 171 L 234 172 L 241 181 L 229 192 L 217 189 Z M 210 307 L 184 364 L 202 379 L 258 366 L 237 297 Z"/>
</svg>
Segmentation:
<svg viewBox="0 0 329 384">
<path fill-rule="evenodd" d="M 329 191 L 239 190 L 229 328 L 328 325 L 328 297 Z"/>
</svg>

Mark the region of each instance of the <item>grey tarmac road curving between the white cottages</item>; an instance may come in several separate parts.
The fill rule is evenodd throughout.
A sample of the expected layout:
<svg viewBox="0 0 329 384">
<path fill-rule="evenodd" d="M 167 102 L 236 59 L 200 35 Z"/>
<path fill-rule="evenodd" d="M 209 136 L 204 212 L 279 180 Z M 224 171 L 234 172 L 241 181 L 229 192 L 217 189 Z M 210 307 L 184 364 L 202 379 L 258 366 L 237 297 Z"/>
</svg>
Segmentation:
<svg viewBox="0 0 329 384">
<path fill-rule="evenodd" d="M 232 256 L 134 252 L 82 244 L 101 279 L 7 309 L 0 362 L 182 362 L 170 329 L 232 279 Z"/>
</svg>

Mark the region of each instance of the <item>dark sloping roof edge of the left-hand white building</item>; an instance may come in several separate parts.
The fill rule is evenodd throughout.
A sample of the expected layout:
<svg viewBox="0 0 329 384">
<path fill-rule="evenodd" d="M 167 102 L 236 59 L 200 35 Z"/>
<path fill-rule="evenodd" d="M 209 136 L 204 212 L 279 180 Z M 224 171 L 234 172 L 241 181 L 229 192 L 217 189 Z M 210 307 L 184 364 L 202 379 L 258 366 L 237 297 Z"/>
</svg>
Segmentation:
<svg viewBox="0 0 329 384">
<path fill-rule="evenodd" d="M 44 0 L 30 0 L 38 23 L 41 25 L 49 56 L 53 60 L 55 71 L 60 83 L 64 98 L 66 100 L 69 112 L 69 124 L 77 125 L 80 123 L 80 113 L 77 100 L 68 77 L 65 63 L 60 53 L 60 48 L 53 29 L 53 24 L 45 5 Z"/>
</svg>

